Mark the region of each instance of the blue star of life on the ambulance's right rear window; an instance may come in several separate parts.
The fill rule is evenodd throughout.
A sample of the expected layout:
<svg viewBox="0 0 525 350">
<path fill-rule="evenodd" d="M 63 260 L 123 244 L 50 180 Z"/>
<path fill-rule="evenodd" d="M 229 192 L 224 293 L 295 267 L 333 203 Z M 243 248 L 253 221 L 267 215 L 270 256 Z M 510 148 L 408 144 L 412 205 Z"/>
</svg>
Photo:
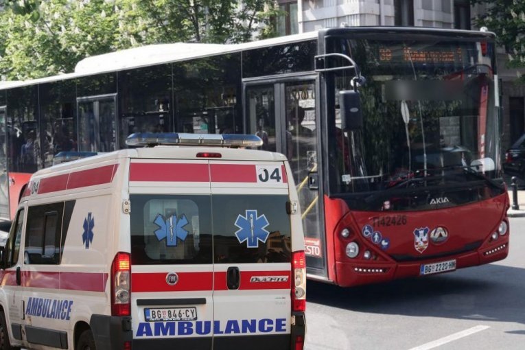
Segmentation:
<svg viewBox="0 0 525 350">
<path fill-rule="evenodd" d="M 239 228 L 235 236 L 239 243 L 246 241 L 248 248 L 257 248 L 259 241 L 266 243 L 268 240 L 270 232 L 266 231 L 265 227 L 269 224 L 264 214 L 257 216 L 257 210 L 246 210 L 246 216 L 239 214 L 235 220 L 235 226 Z"/>
</svg>

